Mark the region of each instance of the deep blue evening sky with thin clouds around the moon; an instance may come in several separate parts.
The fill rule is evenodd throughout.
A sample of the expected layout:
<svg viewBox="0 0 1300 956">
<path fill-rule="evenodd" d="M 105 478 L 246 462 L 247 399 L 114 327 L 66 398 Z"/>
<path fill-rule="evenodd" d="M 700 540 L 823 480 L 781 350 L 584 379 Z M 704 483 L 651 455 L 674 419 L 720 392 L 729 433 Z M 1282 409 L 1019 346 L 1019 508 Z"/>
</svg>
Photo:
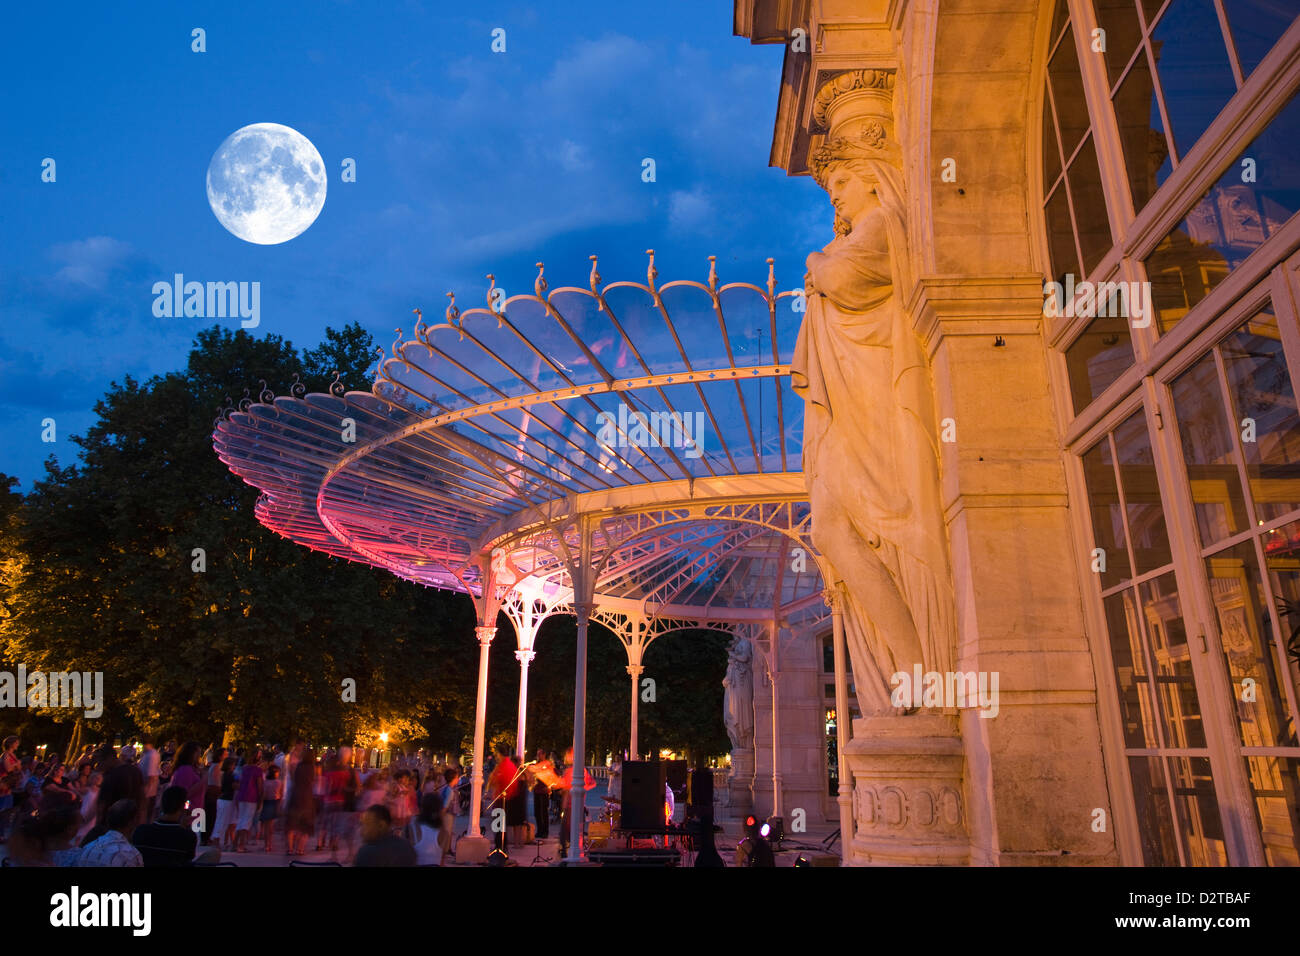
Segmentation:
<svg viewBox="0 0 1300 956">
<path fill-rule="evenodd" d="M 467 12 L 467 7 L 473 7 Z M 194 333 L 152 286 L 259 281 L 261 324 L 315 346 L 360 321 L 389 347 L 446 291 L 606 282 L 802 284 L 832 213 L 767 166 L 781 48 L 732 36 L 729 3 L 13 4 L 0 39 L 0 471 L 29 489 L 114 380 L 185 365 Z M 207 52 L 191 52 L 194 27 Z M 506 30 L 506 52 L 491 31 Z M 689 29 L 688 29 L 689 27 Z M 325 208 L 260 246 L 208 206 L 208 163 L 276 122 L 325 160 Z M 57 181 L 42 182 L 42 160 Z M 341 179 L 344 157 L 356 182 Z M 656 181 L 642 182 L 653 157 Z M 287 382 L 272 382 L 278 392 Z M 58 441 L 40 440 L 53 418 Z"/>
</svg>

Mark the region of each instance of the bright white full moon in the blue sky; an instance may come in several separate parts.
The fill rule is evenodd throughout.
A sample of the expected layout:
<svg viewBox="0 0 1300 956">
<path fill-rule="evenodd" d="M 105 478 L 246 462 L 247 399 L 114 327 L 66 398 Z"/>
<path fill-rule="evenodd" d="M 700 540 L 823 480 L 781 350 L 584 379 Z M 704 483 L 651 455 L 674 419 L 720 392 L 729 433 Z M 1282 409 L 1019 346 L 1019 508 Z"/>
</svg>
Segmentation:
<svg viewBox="0 0 1300 956">
<path fill-rule="evenodd" d="M 226 137 L 212 155 L 208 204 L 244 242 L 289 242 L 325 206 L 325 161 L 298 130 L 255 122 Z"/>
</svg>

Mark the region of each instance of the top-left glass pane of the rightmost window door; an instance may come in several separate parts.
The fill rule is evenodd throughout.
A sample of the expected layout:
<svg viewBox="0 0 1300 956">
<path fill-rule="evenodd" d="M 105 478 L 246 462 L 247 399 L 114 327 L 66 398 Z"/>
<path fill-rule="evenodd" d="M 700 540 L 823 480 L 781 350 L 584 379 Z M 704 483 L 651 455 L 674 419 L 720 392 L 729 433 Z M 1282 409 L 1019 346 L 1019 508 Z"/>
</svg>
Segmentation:
<svg viewBox="0 0 1300 956">
<path fill-rule="evenodd" d="M 1209 546 L 1249 527 L 1214 356 L 1206 355 L 1175 378 L 1173 393 L 1196 524 L 1201 545 Z"/>
</svg>

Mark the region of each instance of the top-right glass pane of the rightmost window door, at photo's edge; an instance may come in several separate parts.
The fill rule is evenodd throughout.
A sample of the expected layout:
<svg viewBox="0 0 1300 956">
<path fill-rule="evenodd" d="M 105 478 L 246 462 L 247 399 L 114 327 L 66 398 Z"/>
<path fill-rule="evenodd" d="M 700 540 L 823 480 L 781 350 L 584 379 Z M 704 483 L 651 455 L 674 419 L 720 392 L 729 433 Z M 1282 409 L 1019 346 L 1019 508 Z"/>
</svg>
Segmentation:
<svg viewBox="0 0 1300 956">
<path fill-rule="evenodd" d="M 1300 507 L 1300 416 L 1278 319 L 1265 310 L 1221 345 L 1260 524 Z"/>
</svg>

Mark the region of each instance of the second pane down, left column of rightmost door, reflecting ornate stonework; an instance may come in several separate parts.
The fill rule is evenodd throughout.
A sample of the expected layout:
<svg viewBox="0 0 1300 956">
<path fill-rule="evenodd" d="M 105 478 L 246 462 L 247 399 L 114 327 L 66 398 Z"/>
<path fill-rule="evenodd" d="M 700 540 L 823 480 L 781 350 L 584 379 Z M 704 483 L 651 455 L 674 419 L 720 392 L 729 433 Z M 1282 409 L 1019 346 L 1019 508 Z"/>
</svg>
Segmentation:
<svg viewBox="0 0 1300 956">
<path fill-rule="evenodd" d="M 1232 682 L 1242 743 L 1245 747 L 1294 747 L 1295 724 L 1279 693 L 1273 618 L 1254 559 L 1254 544 L 1247 541 L 1221 551 L 1205 561 L 1205 568 L 1218 613 L 1223 662 Z"/>
</svg>

